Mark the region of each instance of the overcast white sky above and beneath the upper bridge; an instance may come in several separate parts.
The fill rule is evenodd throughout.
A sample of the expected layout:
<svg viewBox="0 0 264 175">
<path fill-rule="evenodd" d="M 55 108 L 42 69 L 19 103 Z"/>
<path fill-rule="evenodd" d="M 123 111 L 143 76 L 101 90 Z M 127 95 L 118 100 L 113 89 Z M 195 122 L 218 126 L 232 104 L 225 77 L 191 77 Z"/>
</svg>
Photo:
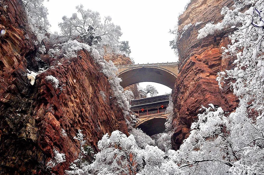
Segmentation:
<svg viewBox="0 0 264 175">
<path fill-rule="evenodd" d="M 104 16 L 111 16 L 112 22 L 121 27 L 123 35 L 120 41 L 129 41 L 135 64 L 176 62 L 177 58 L 169 46 L 178 14 L 183 11 L 188 0 L 49 0 L 44 5 L 48 8 L 50 31 L 60 31 L 58 23 L 64 15 L 70 17 L 76 12 L 75 7 L 83 4 L 84 8 L 97 11 Z M 151 84 L 159 95 L 171 92 L 167 86 L 153 83 L 140 83 L 142 87 Z"/>
</svg>

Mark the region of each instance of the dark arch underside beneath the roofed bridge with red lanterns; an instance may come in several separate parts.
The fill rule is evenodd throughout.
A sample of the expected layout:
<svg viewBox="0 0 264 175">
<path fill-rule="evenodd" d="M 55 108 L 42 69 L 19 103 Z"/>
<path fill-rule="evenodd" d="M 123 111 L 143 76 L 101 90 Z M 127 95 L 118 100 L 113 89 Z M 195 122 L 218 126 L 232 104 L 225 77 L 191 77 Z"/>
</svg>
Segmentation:
<svg viewBox="0 0 264 175">
<path fill-rule="evenodd" d="M 140 128 L 144 133 L 149 136 L 154 134 L 163 133 L 165 131 L 166 118 L 164 116 L 150 118 L 139 124 L 136 128 Z"/>
</svg>

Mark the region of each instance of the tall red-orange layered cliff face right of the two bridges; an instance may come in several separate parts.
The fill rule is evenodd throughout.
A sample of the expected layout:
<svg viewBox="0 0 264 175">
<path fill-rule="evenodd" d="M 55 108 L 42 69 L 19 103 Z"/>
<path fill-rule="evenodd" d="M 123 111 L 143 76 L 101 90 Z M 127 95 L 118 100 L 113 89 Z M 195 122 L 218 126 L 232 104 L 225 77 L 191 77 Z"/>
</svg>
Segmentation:
<svg viewBox="0 0 264 175">
<path fill-rule="evenodd" d="M 227 47 L 228 35 L 225 30 L 197 40 L 198 30 L 208 22 L 220 22 L 221 8 L 232 6 L 233 0 L 193 0 L 179 17 L 179 75 L 172 92 L 175 132 L 172 135 L 172 148 L 179 149 L 182 141 L 190 135 L 192 121 L 195 120 L 201 105 L 220 106 L 224 111 L 235 110 L 238 99 L 229 89 L 228 82 L 223 90 L 216 81 L 217 72 L 232 69 L 233 57 L 223 57 L 221 47 Z M 202 22 L 195 25 L 197 22 Z M 192 23 L 187 30 L 185 25 Z"/>
</svg>

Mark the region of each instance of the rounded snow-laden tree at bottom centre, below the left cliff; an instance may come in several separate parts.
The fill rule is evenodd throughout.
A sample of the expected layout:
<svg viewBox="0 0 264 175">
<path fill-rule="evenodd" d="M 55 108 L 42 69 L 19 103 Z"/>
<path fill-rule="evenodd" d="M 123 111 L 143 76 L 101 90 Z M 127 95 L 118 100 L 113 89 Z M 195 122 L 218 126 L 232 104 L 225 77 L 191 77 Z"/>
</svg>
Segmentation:
<svg viewBox="0 0 264 175">
<path fill-rule="evenodd" d="M 142 164 L 142 154 L 133 135 L 126 137 L 119 131 L 112 132 L 111 136 L 104 135 L 98 142 L 101 150 L 95 155 L 92 164 L 67 171 L 67 174 L 136 174 L 136 169 Z M 77 173 L 76 173 L 77 172 Z"/>
</svg>

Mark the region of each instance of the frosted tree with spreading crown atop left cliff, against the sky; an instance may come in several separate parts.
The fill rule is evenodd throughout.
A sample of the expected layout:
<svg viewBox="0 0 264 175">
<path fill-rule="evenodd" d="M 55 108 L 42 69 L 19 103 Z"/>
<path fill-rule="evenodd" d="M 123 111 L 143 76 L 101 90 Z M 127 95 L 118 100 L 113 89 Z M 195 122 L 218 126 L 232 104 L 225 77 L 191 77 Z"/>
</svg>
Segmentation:
<svg viewBox="0 0 264 175">
<path fill-rule="evenodd" d="M 59 27 L 64 36 L 69 39 L 80 39 L 89 46 L 94 46 L 101 55 L 104 54 L 103 46 L 107 46 L 110 52 L 118 53 L 119 37 L 122 35 L 120 26 L 111 22 L 107 16 L 101 21 L 98 12 L 90 9 L 84 10 L 83 5 L 76 6 L 77 13 L 72 17 L 64 16 Z"/>
</svg>

